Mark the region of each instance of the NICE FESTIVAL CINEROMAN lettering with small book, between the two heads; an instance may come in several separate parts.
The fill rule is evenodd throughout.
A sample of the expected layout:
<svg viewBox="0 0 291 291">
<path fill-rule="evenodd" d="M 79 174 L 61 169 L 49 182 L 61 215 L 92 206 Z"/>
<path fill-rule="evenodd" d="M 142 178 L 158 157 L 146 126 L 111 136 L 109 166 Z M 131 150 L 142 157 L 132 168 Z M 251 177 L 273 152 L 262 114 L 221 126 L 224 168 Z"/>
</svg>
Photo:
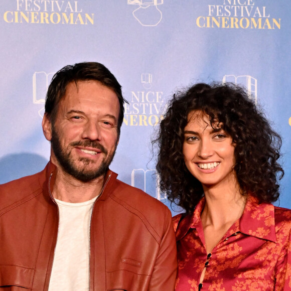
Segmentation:
<svg viewBox="0 0 291 291">
<path fill-rule="evenodd" d="M 155 126 L 164 110 L 162 91 L 153 90 L 153 75 L 141 74 L 142 87 L 138 91 L 131 91 L 128 104 L 124 104 L 123 122 L 129 126 Z"/>
</svg>

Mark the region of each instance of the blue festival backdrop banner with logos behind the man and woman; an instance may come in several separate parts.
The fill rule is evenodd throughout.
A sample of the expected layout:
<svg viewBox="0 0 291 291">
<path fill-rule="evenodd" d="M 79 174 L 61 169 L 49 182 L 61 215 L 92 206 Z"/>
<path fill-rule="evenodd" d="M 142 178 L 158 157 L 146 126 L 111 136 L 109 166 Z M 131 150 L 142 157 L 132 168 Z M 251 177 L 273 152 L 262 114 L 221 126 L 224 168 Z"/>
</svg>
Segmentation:
<svg viewBox="0 0 291 291">
<path fill-rule="evenodd" d="M 0 183 L 41 171 L 47 87 L 68 64 L 103 63 L 128 100 L 111 169 L 167 203 L 151 139 L 175 90 L 242 84 L 283 138 L 280 201 L 291 208 L 291 2 L 1 0 Z M 174 211 L 173 211 L 174 214 Z"/>
</svg>

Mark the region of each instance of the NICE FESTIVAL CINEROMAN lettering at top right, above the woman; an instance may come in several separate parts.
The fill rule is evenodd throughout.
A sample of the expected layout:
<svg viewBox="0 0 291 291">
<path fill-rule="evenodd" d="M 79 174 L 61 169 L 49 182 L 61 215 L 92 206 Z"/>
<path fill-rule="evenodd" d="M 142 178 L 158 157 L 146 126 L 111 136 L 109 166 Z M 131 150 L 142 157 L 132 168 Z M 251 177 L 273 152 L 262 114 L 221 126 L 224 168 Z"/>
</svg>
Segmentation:
<svg viewBox="0 0 291 291">
<path fill-rule="evenodd" d="M 266 7 L 255 7 L 254 0 L 223 0 L 208 5 L 208 16 L 199 16 L 200 28 L 280 29 L 281 19 L 270 18 Z"/>
</svg>

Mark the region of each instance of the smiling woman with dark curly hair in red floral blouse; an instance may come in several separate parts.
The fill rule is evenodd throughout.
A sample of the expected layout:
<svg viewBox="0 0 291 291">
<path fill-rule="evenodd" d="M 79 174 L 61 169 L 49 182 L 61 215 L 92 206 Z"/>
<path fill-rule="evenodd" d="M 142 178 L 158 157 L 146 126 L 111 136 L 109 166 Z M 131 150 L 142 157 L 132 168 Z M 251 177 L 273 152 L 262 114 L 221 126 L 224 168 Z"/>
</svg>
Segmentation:
<svg viewBox="0 0 291 291">
<path fill-rule="evenodd" d="M 197 84 L 161 122 L 161 190 L 174 217 L 177 291 L 291 290 L 291 211 L 274 207 L 281 139 L 247 93 Z"/>
</svg>

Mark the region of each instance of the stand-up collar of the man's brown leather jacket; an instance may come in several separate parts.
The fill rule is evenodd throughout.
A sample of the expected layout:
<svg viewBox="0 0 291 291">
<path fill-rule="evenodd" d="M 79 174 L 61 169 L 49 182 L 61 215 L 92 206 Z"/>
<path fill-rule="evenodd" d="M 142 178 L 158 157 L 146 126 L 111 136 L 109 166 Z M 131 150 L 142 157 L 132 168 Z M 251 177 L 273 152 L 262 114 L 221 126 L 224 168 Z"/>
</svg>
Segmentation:
<svg viewBox="0 0 291 291">
<path fill-rule="evenodd" d="M 47 166 L 45 168 L 45 172 L 46 172 L 46 181 L 47 181 L 46 182 L 46 185 L 47 185 L 46 190 L 48 191 L 48 194 L 50 192 L 53 193 L 55 180 L 56 180 L 56 176 L 57 176 L 57 167 L 56 167 L 56 165 L 54 165 L 52 163 L 51 160 L 47 164 Z M 112 172 L 109 169 L 107 170 L 105 177 L 104 177 L 103 187 L 101 190 L 101 196 L 99 197 L 98 200 L 105 200 L 107 198 L 107 196 L 111 192 L 108 190 L 111 189 L 111 187 L 115 184 L 114 181 L 116 180 L 117 176 L 118 175 L 116 173 Z"/>
</svg>

